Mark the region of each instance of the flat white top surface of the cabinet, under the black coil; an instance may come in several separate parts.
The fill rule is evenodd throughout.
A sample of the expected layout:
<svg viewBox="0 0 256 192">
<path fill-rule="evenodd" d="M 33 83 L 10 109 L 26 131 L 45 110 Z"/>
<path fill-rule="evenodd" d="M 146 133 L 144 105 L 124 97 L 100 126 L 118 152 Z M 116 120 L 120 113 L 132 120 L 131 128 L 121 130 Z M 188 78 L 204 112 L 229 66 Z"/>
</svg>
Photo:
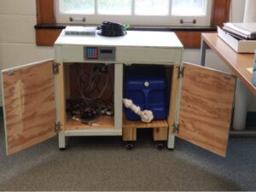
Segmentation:
<svg viewBox="0 0 256 192">
<path fill-rule="evenodd" d="M 96 36 L 85 35 L 61 35 L 55 41 L 55 45 L 83 45 L 83 46 L 114 46 L 114 47 L 155 47 L 183 49 L 174 32 L 135 32 L 128 31 L 123 37 L 108 38 L 98 34 Z"/>
</svg>

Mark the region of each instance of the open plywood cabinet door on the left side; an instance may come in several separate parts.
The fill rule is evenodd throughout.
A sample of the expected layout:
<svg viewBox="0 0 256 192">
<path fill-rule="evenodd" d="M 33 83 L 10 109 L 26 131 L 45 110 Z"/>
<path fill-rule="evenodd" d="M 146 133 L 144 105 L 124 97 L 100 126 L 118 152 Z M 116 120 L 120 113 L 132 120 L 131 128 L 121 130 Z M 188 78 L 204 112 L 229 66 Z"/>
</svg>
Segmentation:
<svg viewBox="0 0 256 192">
<path fill-rule="evenodd" d="M 55 136 L 53 64 L 42 61 L 2 71 L 7 154 Z"/>
</svg>

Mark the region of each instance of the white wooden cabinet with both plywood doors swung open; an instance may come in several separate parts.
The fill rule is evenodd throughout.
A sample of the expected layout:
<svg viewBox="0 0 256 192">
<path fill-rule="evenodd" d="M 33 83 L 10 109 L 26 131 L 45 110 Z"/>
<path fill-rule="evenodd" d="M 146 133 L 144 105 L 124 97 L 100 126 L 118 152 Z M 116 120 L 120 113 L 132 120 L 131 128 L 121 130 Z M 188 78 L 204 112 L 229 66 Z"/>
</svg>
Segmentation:
<svg viewBox="0 0 256 192">
<path fill-rule="evenodd" d="M 90 59 L 87 48 L 102 50 L 102 57 Z M 104 49 L 113 50 L 105 51 L 113 55 L 104 55 Z M 66 137 L 122 136 L 124 65 L 155 64 L 166 66 L 169 72 L 168 148 L 174 148 L 177 136 L 224 156 L 236 78 L 182 63 L 182 55 L 183 45 L 172 32 L 128 32 L 121 38 L 66 36 L 62 32 L 55 42 L 55 61 L 2 72 L 7 153 L 54 137 L 55 132 L 59 148 L 66 147 Z M 66 113 L 76 77 L 73 67 L 90 65 L 113 68 L 108 89 L 113 90 L 114 115 L 100 117 L 97 126 L 76 122 Z"/>
</svg>

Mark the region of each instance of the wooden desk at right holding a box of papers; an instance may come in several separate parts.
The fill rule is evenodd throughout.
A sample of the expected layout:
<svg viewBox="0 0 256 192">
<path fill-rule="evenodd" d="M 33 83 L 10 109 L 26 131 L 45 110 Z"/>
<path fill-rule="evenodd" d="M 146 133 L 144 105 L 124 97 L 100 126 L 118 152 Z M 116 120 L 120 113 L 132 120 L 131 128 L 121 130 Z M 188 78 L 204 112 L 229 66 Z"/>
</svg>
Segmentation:
<svg viewBox="0 0 256 192">
<path fill-rule="evenodd" d="M 252 84 L 253 76 L 253 54 L 237 54 L 235 50 L 221 38 L 217 33 L 201 34 L 201 65 L 205 66 L 206 49 L 210 47 L 224 63 L 236 74 L 247 89 L 256 96 L 256 86 Z"/>
</svg>

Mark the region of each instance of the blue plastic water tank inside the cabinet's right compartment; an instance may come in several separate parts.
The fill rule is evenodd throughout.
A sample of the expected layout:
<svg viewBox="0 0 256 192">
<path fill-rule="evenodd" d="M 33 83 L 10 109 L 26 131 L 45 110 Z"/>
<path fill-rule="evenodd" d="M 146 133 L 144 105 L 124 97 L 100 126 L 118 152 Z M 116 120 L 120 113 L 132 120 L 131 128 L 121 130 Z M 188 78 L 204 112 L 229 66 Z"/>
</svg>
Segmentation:
<svg viewBox="0 0 256 192">
<path fill-rule="evenodd" d="M 166 119 L 166 73 L 165 67 L 132 65 L 125 67 L 124 98 L 131 99 L 142 110 L 151 110 L 154 119 Z M 140 117 L 125 108 L 128 120 L 140 120 Z"/>
</svg>

